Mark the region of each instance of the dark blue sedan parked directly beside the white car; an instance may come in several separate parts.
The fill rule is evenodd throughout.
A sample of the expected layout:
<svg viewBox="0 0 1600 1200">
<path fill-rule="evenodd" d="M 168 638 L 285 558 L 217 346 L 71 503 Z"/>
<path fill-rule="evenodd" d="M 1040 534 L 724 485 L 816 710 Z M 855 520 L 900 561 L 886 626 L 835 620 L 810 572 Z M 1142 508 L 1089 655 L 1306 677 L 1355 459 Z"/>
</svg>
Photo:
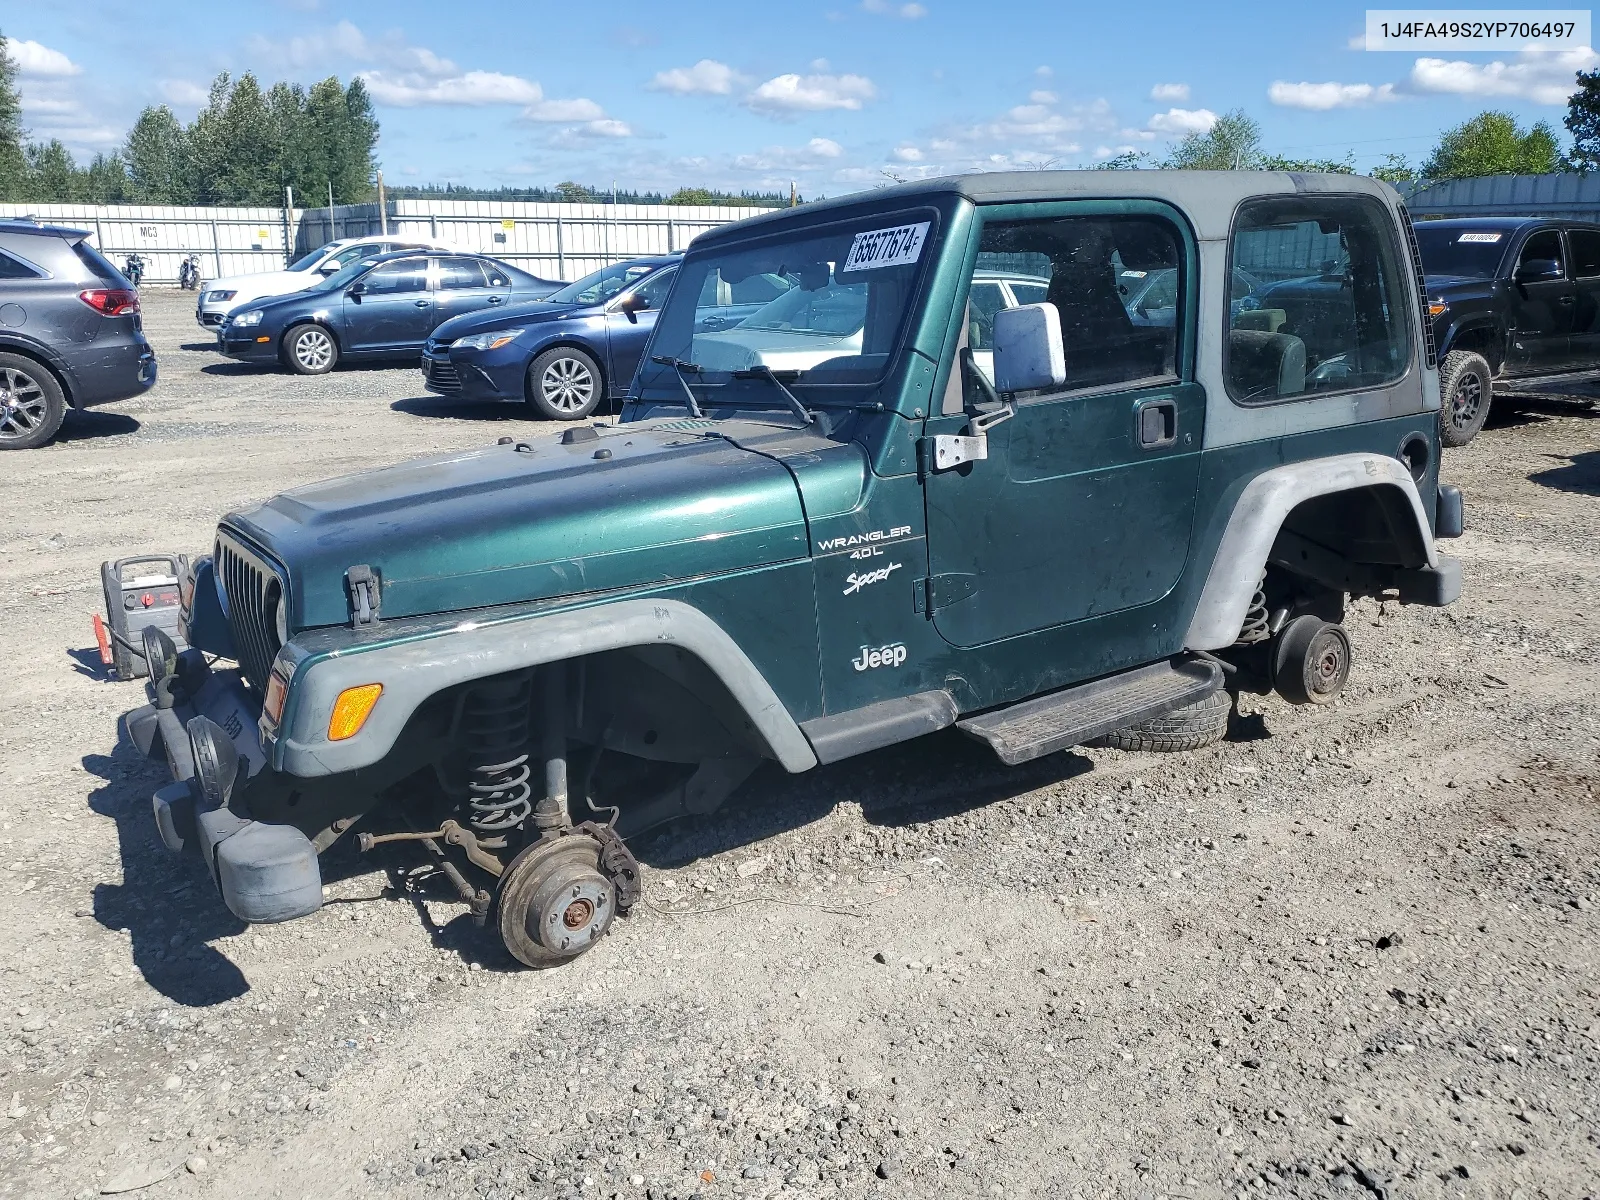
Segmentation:
<svg viewBox="0 0 1600 1200">
<path fill-rule="evenodd" d="M 355 262 L 306 291 L 242 304 L 222 318 L 216 341 L 229 358 L 323 374 L 342 358 L 411 357 L 446 322 L 560 286 L 486 254 L 403 250 Z"/>
</svg>

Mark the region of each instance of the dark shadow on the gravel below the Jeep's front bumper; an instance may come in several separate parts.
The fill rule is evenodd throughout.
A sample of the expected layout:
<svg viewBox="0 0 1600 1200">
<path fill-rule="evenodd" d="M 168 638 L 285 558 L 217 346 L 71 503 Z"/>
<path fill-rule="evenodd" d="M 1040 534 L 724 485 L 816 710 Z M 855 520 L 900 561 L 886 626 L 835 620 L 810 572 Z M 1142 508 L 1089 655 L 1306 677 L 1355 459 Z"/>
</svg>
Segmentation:
<svg viewBox="0 0 1600 1200">
<path fill-rule="evenodd" d="M 211 946 L 246 928 L 216 896 L 198 858 L 173 854 L 150 818 L 150 794 L 166 781 L 160 763 L 126 739 L 110 754 L 83 757 L 83 770 L 104 782 L 88 806 L 117 822 L 122 882 L 93 885 L 94 920 L 126 930 L 133 965 L 168 1000 L 208 1008 L 250 990 L 234 962 Z"/>
</svg>

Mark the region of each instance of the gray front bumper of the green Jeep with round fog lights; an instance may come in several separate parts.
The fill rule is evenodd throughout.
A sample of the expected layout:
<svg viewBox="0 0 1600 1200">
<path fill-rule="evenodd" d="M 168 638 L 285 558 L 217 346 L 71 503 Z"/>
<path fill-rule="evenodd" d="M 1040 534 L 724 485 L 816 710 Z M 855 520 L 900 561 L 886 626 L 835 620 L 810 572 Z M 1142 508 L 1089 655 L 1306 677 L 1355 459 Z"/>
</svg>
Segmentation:
<svg viewBox="0 0 1600 1200">
<path fill-rule="evenodd" d="M 173 778 L 150 800 L 162 842 L 200 858 L 222 902 L 243 922 L 310 915 L 322 907 L 322 867 L 310 838 L 294 826 L 253 819 L 238 787 L 222 806 L 202 800 L 189 723 L 206 717 L 221 726 L 250 779 L 270 770 L 256 731 L 259 702 L 237 670 L 211 670 L 195 650 L 181 656 L 176 680 L 182 686 L 147 685 L 150 702 L 122 718 L 122 734 L 147 757 L 165 758 Z"/>
</svg>

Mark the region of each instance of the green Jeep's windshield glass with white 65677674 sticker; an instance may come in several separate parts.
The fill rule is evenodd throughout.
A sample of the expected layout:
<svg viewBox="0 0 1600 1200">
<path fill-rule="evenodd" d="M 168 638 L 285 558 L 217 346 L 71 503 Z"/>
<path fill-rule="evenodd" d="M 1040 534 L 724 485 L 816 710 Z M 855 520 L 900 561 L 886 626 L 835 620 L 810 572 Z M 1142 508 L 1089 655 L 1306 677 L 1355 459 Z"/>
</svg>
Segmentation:
<svg viewBox="0 0 1600 1200">
<path fill-rule="evenodd" d="M 800 384 L 880 379 L 931 258 L 934 222 L 928 210 L 874 213 L 694 254 L 651 355 L 694 363 L 707 381 L 758 366 Z"/>
</svg>

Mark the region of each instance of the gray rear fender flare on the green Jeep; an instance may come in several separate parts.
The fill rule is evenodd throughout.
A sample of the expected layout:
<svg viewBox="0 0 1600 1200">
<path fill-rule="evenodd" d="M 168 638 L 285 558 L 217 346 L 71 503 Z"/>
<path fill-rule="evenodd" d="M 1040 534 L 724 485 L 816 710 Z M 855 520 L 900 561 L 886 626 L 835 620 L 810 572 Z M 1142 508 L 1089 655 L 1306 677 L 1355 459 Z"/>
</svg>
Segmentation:
<svg viewBox="0 0 1600 1200">
<path fill-rule="evenodd" d="M 1427 565 L 1438 566 L 1434 528 L 1411 472 L 1400 459 L 1384 454 L 1336 454 L 1272 467 L 1245 485 L 1234 504 L 1216 558 L 1211 560 L 1211 573 L 1200 592 L 1200 603 L 1189 622 L 1184 648 L 1222 650 L 1234 645 L 1245 624 L 1245 613 L 1250 611 L 1250 597 L 1267 566 L 1272 542 L 1294 506 L 1315 496 L 1371 486 L 1397 488 L 1411 501 Z"/>
</svg>

